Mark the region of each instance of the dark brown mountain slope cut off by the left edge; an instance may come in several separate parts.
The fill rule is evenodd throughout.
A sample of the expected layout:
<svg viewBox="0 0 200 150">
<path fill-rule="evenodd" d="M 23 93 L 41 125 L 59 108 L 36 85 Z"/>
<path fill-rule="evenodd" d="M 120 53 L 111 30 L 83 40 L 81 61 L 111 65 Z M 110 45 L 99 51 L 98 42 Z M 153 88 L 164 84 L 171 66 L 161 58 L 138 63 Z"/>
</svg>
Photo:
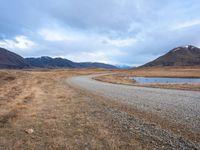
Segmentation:
<svg viewBox="0 0 200 150">
<path fill-rule="evenodd" d="M 0 48 L 0 69 L 21 69 L 29 67 L 30 65 L 23 57 L 4 48 Z"/>
</svg>

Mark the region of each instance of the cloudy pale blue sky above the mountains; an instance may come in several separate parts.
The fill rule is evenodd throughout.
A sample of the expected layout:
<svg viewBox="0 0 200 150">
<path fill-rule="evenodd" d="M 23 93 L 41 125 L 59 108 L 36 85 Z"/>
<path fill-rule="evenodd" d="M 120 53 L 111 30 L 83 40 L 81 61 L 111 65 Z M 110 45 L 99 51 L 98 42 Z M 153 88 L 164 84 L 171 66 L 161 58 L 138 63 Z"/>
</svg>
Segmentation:
<svg viewBox="0 0 200 150">
<path fill-rule="evenodd" d="M 23 57 L 138 66 L 200 47 L 199 0 L 0 0 L 0 47 Z"/>
</svg>

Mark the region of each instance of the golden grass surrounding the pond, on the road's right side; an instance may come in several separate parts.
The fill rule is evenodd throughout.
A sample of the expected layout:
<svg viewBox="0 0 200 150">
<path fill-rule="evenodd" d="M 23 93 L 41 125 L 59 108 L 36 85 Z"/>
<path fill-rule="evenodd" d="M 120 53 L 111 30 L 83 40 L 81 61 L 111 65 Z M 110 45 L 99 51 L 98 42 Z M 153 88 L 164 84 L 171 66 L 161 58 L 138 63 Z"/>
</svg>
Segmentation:
<svg viewBox="0 0 200 150">
<path fill-rule="evenodd" d="M 149 68 L 135 68 L 129 69 L 115 75 L 105 75 L 96 77 L 96 80 L 126 84 L 142 87 L 154 87 L 165 89 L 181 89 L 181 90 L 194 90 L 200 91 L 200 84 L 138 84 L 131 79 L 125 79 L 128 76 L 141 76 L 141 77 L 189 77 L 200 78 L 200 67 L 149 67 Z"/>
</svg>

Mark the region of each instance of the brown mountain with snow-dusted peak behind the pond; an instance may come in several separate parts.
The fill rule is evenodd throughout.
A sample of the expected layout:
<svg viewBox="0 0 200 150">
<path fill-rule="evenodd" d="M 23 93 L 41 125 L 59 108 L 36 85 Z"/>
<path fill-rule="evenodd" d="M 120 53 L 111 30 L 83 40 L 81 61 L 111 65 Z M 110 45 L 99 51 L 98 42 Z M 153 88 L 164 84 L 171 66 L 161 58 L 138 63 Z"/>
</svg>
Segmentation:
<svg viewBox="0 0 200 150">
<path fill-rule="evenodd" d="M 192 45 L 177 47 L 143 66 L 200 66 L 200 48 Z"/>
</svg>

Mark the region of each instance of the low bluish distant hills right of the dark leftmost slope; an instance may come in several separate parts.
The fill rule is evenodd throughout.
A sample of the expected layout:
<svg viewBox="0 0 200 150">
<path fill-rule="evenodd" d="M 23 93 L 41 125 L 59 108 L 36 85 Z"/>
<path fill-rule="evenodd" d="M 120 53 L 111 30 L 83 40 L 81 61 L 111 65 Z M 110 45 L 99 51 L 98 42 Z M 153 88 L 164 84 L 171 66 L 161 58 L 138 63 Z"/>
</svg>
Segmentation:
<svg viewBox="0 0 200 150">
<path fill-rule="evenodd" d="M 64 58 L 51 58 L 43 56 L 40 58 L 26 58 L 26 61 L 36 68 L 109 68 L 117 67 L 104 63 L 83 62 L 76 63 Z"/>
</svg>

